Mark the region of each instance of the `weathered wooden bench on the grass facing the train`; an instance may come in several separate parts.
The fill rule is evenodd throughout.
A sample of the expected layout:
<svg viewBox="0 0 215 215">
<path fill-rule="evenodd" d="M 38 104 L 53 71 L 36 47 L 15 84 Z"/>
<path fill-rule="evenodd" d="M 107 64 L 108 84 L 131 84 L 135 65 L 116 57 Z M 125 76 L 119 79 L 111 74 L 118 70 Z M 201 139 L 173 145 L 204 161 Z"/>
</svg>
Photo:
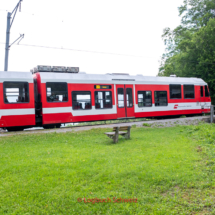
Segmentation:
<svg viewBox="0 0 215 215">
<path fill-rule="evenodd" d="M 119 135 L 126 139 L 130 139 L 131 126 L 114 127 L 113 132 L 106 132 L 105 134 L 113 139 L 114 143 L 118 142 Z"/>
</svg>

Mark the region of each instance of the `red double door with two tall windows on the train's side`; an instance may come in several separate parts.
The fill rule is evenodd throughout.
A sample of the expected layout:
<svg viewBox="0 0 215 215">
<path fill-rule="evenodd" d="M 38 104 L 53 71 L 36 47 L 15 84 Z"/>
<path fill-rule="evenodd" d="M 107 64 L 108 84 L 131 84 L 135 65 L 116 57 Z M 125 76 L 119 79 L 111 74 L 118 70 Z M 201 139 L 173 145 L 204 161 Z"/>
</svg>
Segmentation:
<svg viewBox="0 0 215 215">
<path fill-rule="evenodd" d="M 117 117 L 133 118 L 134 117 L 134 97 L 133 85 L 116 85 L 117 98 Z"/>
</svg>

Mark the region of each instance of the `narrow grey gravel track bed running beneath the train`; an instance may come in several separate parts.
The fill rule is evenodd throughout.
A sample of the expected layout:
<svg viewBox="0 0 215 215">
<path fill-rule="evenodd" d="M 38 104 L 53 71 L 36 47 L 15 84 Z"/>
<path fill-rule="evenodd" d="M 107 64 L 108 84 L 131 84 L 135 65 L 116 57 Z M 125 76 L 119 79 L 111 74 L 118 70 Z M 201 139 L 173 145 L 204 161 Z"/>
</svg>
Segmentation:
<svg viewBox="0 0 215 215">
<path fill-rule="evenodd" d="M 149 124 L 151 127 L 172 127 L 175 125 L 194 125 L 199 122 L 209 122 L 209 116 L 198 116 L 198 117 L 186 117 L 186 118 L 171 118 L 171 119 L 158 119 L 150 121 L 136 121 L 136 122 L 117 122 L 111 124 L 97 124 L 97 125 L 80 125 L 80 126 L 71 126 L 71 127 L 61 127 L 54 129 L 27 129 L 24 131 L 15 131 L 15 132 L 2 132 L 0 137 L 11 136 L 11 135 L 20 135 L 20 134 L 37 134 L 37 133 L 65 133 L 65 132 L 78 132 L 91 130 L 95 128 L 112 128 L 113 126 L 132 126 L 136 125 L 137 127 L 144 127 L 145 124 Z"/>
</svg>

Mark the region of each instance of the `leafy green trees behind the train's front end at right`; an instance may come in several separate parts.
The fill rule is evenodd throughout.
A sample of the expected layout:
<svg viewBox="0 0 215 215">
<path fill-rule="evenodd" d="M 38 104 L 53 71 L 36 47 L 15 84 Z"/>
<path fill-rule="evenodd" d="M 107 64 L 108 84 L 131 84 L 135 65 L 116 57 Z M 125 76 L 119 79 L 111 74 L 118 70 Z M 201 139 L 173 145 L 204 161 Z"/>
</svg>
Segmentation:
<svg viewBox="0 0 215 215">
<path fill-rule="evenodd" d="M 202 78 L 215 104 L 215 0 L 184 0 L 178 9 L 181 24 L 162 35 L 166 52 L 158 76 Z"/>
</svg>

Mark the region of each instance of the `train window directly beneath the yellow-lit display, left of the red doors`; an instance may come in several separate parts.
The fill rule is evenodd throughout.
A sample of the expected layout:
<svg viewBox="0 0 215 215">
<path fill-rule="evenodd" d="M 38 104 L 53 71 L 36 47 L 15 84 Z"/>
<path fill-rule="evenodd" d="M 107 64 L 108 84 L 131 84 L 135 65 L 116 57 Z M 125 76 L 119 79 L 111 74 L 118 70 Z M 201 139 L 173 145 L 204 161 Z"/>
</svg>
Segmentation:
<svg viewBox="0 0 215 215">
<path fill-rule="evenodd" d="M 95 107 L 96 109 L 112 108 L 112 92 L 111 91 L 96 91 L 95 92 Z"/>
</svg>

